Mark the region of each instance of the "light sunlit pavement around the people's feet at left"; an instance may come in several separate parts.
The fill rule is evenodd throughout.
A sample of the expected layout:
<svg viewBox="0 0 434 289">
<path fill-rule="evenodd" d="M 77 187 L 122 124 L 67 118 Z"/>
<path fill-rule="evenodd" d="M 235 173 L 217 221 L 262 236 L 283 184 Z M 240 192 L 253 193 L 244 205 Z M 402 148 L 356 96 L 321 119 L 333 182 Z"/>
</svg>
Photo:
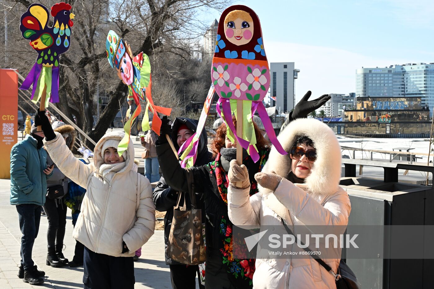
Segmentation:
<svg viewBox="0 0 434 289">
<path fill-rule="evenodd" d="M 110 131 L 110 130 L 109 130 Z M 135 141 L 135 155 L 143 166 L 140 142 Z M 41 216 L 39 234 L 33 246 L 33 260 L 39 269 L 45 271 L 45 283 L 31 286 L 19 279 L 18 265 L 20 264 L 21 231 L 18 223 L 18 213 L 15 206 L 9 204 L 10 180 L 0 179 L 0 288 L 83 288 L 83 267 L 53 268 L 45 265 L 47 254 L 46 232 L 47 219 Z M 72 259 L 75 240 L 72 238 L 71 210 L 67 213 L 65 251 L 64 255 Z M 171 288 L 169 266 L 164 263 L 163 231 L 155 231 L 151 239 L 142 247 L 142 255 L 135 262 L 135 288 Z M 197 282 L 196 282 L 197 283 Z"/>
</svg>

